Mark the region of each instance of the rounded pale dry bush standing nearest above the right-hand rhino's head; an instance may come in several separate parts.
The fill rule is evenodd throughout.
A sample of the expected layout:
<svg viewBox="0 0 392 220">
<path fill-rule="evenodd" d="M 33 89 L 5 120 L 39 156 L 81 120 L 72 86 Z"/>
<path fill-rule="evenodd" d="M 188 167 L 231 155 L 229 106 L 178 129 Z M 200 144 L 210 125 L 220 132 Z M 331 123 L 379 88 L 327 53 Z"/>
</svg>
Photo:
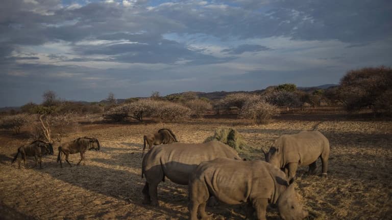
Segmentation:
<svg viewBox="0 0 392 220">
<path fill-rule="evenodd" d="M 280 111 L 276 105 L 265 101 L 247 102 L 241 108 L 241 118 L 253 119 L 255 123 L 265 122 L 273 116 L 279 115 Z"/>
</svg>

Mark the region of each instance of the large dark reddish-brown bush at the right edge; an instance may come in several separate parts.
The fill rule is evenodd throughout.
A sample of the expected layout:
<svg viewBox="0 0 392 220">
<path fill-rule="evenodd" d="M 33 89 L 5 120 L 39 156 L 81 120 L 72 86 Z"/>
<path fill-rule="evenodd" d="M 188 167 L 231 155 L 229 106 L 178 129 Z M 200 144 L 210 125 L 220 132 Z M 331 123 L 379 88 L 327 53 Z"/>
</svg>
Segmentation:
<svg viewBox="0 0 392 220">
<path fill-rule="evenodd" d="M 351 70 L 340 79 L 337 96 L 348 111 L 371 107 L 374 113 L 388 111 L 384 102 L 386 93 L 392 88 L 392 69 L 387 67 Z"/>
</svg>

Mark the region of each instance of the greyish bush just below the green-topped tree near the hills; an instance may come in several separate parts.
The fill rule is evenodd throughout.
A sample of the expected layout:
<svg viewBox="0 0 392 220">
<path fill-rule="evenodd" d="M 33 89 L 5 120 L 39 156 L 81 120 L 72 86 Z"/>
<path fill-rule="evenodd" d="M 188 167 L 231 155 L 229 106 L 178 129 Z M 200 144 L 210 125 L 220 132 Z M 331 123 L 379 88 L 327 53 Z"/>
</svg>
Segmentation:
<svg viewBox="0 0 392 220">
<path fill-rule="evenodd" d="M 293 92 L 287 91 L 275 91 L 264 96 L 265 101 L 270 104 L 278 105 L 281 107 L 287 107 L 287 111 L 290 107 L 300 107 L 300 98 Z"/>
</svg>

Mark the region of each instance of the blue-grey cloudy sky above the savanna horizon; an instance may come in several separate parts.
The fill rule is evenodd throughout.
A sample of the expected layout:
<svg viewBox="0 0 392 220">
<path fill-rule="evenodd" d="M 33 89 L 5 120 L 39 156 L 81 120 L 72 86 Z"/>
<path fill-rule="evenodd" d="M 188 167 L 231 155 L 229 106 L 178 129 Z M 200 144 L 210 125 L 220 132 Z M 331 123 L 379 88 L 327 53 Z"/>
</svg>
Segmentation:
<svg viewBox="0 0 392 220">
<path fill-rule="evenodd" d="M 338 84 L 392 66 L 390 0 L 3 0 L 0 107 Z"/>
</svg>

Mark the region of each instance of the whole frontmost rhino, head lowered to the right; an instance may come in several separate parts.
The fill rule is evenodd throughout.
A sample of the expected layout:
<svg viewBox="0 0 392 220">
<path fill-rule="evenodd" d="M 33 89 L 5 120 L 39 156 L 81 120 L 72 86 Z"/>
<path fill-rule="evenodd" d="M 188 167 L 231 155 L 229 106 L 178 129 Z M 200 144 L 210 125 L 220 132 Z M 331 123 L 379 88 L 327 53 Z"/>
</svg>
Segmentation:
<svg viewBox="0 0 392 220">
<path fill-rule="evenodd" d="M 268 203 L 278 204 L 285 220 L 303 219 L 308 212 L 296 198 L 293 179 L 265 161 L 242 161 L 217 158 L 200 163 L 189 177 L 190 219 L 208 219 L 205 212 L 210 196 L 227 204 L 248 203 L 247 218 L 256 211 L 257 219 L 265 219 Z"/>
</svg>

